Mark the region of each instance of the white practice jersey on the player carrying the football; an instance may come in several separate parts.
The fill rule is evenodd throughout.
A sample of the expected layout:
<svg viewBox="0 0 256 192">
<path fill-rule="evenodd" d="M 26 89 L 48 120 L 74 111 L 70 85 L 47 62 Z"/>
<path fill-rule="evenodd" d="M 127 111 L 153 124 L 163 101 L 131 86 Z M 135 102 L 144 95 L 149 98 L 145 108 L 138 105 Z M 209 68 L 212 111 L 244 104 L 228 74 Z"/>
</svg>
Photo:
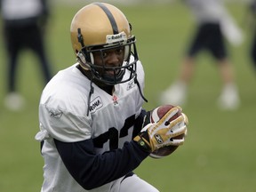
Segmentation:
<svg viewBox="0 0 256 192">
<path fill-rule="evenodd" d="M 92 84 L 93 93 L 88 103 L 89 92 L 92 91 L 91 81 L 76 66 L 77 64 L 61 70 L 54 76 L 45 86 L 40 100 L 40 132 L 36 134 L 36 140 L 44 140 L 42 192 L 87 191 L 69 174 L 53 138 L 63 142 L 77 142 L 116 132 L 116 137 L 119 137 L 117 142 L 110 142 L 113 138 L 107 138 L 94 151 L 101 154 L 111 148 L 122 148 L 125 141 L 132 140 L 133 127 L 129 125 L 129 121 L 140 115 L 143 104 L 134 79 L 124 84 L 116 84 L 112 95 Z M 129 75 L 126 71 L 124 78 Z M 144 71 L 140 61 L 137 62 L 137 78 L 143 90 Z M 112 184 L 113 182 L 90 191 L 107 192 Z"/>
</svg>

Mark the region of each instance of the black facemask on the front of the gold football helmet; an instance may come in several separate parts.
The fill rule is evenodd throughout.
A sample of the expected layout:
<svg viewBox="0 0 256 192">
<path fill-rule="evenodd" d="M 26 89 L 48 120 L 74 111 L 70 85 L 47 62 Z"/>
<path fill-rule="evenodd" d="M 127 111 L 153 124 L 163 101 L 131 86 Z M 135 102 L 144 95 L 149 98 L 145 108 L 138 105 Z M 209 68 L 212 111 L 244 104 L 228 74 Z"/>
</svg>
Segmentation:
<svg viewBox="0 0 256 192">
<path fill-rule="evenodd" d="M 118 35 L 120 36 L 122 34 L 123 33 L 121 32 Z M 80 36 L 79 42 L 82 45 L 82 49 L 76 54 L 77 60 L 82 68 L 91 71 L 92 81 L 99 82 L 100 84 L 114 85 L 128 82 L 134 76 L 136 76 L 136 63 L 139 58 L 135 45 L 135 36 L 122 41 L 114 41 L 108 44 L 90 46 L 84 46 L 82 42 L 83 38 L 81 34 L 79 35 L 79 31 L 78 36 Z M 104 61 L 105 53 L 111 50 L 123 52 L 122 60 L 120 60 L 118 66 L 109 66 Z M 98 63 L 96 63 L 97 60 L 94 59 L 96 55 L 98 58 Z M 131 55 L 133 56 L 132 60 L 130 60 Z M 124 77 L 125 73 L 129 75 Z"/>
</svg>

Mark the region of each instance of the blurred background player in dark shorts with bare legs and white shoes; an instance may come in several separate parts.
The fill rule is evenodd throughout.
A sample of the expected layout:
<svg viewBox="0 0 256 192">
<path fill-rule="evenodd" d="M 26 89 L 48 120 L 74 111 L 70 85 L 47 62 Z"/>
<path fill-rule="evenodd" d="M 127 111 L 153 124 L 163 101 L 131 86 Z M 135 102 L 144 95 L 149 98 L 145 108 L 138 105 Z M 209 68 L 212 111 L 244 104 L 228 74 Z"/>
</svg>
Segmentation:
<svg viewBox="0 0 256 192">
<path fill-rule="evenodd" d="M 218 104 L 223 109 L 235 109 L 239 95 L 234 82 L 233 67 L 228 60 L 224 36 L 235 45 L 241 44 L 243 36 L 236 28 L 220 0 L 186 0 L 196 18 L 196 35 L 189 45 L 187 56 L 180 68 L 179 79 L 161 95 L 161 102 L 184 105 L 187 89 L 194 75 L 196 56 L 206 50 L 217 60 L 223 82 Z"/>
</svg>

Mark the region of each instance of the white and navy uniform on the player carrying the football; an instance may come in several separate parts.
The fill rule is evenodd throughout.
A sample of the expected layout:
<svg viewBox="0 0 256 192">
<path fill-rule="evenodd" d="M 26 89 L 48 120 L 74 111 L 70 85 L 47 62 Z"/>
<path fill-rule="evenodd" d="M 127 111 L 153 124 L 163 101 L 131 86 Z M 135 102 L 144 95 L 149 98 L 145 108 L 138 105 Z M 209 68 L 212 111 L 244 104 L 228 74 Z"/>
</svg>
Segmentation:
<svg viewBox="0 0 256 192">
<path fill-rule="evenodd" d="M 132 141 L 141 128 L 136 126 L 143 104 L 138 85 L 134 79 L 116 84 L 110 95 L 96 84 L 92 88 L 91 80 L 76 66 L 54 76 L 40 100 L 36 140 L 44 142 L 41 192 L 156 192 L 156 188 L 132 174 L 148 156 Z M 129 76 L 128 71 L 125 76 Z M 137 79 L 143 89 L 140 61 Z"/>
</svg>

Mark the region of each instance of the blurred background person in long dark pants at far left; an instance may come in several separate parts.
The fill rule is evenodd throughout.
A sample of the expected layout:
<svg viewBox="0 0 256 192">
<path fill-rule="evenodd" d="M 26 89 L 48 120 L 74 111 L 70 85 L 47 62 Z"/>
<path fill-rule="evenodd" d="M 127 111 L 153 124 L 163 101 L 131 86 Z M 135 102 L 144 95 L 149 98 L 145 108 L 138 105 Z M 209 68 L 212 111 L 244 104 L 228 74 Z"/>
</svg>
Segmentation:
<svg viewBox="0 0 256 192">
<path fill-rule="evenodd" d="M 17 90 L 17 72 L 20 53 L 30 49 L 36 53 L 45 84 L 51 79 L 51 68 L 44 50 L 44 29 L 49 15 L 46 0 L 1 0 L 4 20 L 4 42 L 7 58 L 7 95 L 4 105 L 20 110 L 25 100 Z"/>
</svg>

